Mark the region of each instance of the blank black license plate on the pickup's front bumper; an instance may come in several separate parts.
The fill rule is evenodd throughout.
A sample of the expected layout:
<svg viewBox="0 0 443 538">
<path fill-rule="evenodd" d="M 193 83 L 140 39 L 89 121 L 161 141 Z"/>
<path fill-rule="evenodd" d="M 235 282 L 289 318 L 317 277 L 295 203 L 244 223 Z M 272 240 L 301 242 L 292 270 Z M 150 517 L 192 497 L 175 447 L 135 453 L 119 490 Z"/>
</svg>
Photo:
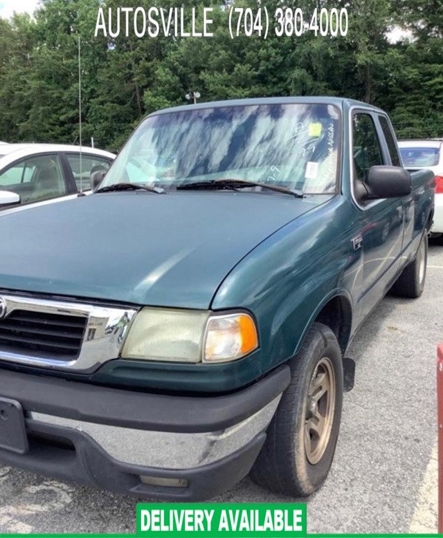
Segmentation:
<svg viewBox="0 0 443 538">
<path fill-rule="evenodd" d="M 26 454 L 28 436 L 20 402 L 0 398 L 0 448 Z"/>
</svg>

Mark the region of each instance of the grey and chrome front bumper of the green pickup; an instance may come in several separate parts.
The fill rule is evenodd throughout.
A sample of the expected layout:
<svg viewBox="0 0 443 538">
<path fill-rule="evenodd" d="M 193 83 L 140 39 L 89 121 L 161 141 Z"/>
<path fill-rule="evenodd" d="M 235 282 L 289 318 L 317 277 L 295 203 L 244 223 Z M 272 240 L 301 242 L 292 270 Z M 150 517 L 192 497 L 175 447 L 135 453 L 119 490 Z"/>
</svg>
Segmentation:
<svg viewBox="0 0 443 538">
<path fill-rule="evenodd" d="M 225 396 L 166 396 L 0 371 L 29 449 L 0 461 L 138 497 L 201 500 L 248 474 L 289 367 Z"/>
</svg>

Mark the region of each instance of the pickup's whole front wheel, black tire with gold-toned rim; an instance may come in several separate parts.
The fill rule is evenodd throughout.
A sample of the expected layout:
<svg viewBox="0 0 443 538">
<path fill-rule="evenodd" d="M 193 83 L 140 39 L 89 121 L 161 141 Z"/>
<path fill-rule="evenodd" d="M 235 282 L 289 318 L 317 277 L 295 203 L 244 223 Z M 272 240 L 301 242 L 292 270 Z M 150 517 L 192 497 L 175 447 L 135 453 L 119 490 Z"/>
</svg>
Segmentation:
<svg viewBox="0 0 443 538">
<path fill-rule="evenodd" d="M 251 479 L 274 492 L 306 496 L 334 458 L 343 401 L 343 358 L 329 327 L 314 323 L 289 363 L 291 383 L 269 425 Z"/>
</svg>

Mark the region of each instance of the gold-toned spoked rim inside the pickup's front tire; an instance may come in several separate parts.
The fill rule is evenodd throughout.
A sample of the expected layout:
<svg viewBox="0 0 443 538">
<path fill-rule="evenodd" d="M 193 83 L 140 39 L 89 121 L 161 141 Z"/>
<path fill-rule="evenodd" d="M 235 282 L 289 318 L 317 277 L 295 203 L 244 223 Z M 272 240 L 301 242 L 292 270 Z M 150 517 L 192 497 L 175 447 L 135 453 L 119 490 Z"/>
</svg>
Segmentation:
<svg viewBox="0 0 443 538">
<path fill-rule="evenodd" d="M 323 357 L 311 377 L 306 403 L 305 452 L 311 465 L 325 454 L 335 411 L 335 373 L 332 362 Z"/>
</svg>

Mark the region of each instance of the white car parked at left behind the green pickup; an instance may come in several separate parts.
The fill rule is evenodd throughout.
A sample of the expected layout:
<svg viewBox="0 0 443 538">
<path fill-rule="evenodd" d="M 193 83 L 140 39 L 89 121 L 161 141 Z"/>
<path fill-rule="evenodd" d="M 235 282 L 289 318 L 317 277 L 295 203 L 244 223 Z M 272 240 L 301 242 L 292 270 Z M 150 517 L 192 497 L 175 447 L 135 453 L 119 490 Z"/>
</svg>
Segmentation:
<svg viewBox="0 0 443 538">
<path fill-rule="evenodd" d="M 91 189 L 93 172 L 116 156 L 91 147 L 57 144 L 0 145 L 0 210 L 48 203 Z"/>
</svg>

